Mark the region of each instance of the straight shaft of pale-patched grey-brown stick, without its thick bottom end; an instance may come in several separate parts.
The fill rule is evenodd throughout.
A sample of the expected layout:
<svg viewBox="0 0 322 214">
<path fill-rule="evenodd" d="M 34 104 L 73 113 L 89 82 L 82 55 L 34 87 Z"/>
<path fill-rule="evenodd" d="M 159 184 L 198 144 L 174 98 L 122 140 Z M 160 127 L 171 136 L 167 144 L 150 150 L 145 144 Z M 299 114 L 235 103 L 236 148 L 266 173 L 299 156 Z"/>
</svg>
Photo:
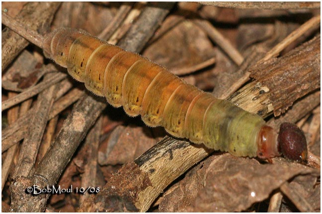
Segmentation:
<svg viewBox="0 0 322 214">
<path fill-rule="evenodd" d="M 41 177 L 46 178 L 49 185 L 56 183 L 62 169 L 65 168 L 71 156 L 78 148 L 80 139 L 85 137 L 87 130 L 95 122 L 95 120 L 89 120 L 87 117 L 97 119 L 105 106 L 105 102 L 99 102 L 92 96 L 84 94 L 65 120 L 52 147 L 35 169 L 34 175 L 41 175 Z M 91 123 L 88 123 L 88 120 Z"/>
</svg>

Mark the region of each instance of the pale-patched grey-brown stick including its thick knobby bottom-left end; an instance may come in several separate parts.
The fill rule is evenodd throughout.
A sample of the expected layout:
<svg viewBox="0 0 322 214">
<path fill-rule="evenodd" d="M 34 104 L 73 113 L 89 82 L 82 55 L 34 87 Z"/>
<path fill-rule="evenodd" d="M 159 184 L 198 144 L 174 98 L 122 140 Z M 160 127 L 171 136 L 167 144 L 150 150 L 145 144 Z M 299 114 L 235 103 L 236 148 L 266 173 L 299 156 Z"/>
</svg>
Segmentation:
<svg viewBox="0 0 322 214">
<path fill-rule="evenodd" d="M 94 100 L 92 96 L 84 95 L 73 108 L 71 114 L 64 122 L 57 138 L 35 168 L 33 175 L 28 178 L 18 176 L 10 186 L 12 211 L 43 211 L 48 200 L 47 194 L 31 196 L 25 189 L 32 185 L 45 187 L 57 182 L 66 164 L 69 162 L 81 139 L 93 125 L 94 119 L 104 109 L 105 103 Z M 91 123 L 88 123 L 88 120 Z"/>
</svg>

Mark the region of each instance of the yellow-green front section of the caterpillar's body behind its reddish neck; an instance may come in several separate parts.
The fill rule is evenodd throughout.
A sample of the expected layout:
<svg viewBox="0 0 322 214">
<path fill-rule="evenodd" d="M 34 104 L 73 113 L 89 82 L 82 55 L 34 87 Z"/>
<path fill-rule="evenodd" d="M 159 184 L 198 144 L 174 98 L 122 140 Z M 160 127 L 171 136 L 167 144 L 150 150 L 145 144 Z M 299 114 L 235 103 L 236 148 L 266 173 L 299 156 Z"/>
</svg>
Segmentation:
<svg viewBox="0 0 322 214">
<path fill-rule="evenodd" d="M 235 156 L 255 157 L 257 137 L 265 121 L 234 104 L 215 99 L 203 121 L 203 143 L 212 149 Z"/>
</svg>

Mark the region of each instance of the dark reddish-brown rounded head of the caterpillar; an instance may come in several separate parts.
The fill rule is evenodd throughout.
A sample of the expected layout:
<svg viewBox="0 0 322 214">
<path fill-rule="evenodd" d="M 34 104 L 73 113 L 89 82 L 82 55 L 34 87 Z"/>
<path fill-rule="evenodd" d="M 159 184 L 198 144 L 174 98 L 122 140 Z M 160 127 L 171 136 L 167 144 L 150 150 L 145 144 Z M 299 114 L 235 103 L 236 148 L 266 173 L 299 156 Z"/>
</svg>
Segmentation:
<svg viewBox="0 0 322 214">
<path fill-rule="evenodd" d="M 278 151 L 291 160 L 306 161 L 308 147 L 303 131 L 293 123 L 282 123 L 278 134 Z"/>
</svg>

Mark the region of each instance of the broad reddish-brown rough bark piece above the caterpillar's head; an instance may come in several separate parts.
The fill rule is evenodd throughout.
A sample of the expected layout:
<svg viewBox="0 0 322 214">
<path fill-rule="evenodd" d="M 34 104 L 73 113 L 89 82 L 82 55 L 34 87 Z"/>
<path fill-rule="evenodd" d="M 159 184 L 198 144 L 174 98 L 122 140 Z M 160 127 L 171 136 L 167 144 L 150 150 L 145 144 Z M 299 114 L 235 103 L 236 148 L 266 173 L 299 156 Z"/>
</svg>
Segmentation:
<svg viewBox="0 0 322 214">
<path fill-rule="evenodd" d="M 250 77 L 269 89 L 275 116 L 284 113 L 297 99 L 320 88 L 320 46 L 318 36 L 279 58 L 257 63 L 250 69 Z M 276 85 L 276 82 L 283 82 L 283 85 Z"/>
</svg>

